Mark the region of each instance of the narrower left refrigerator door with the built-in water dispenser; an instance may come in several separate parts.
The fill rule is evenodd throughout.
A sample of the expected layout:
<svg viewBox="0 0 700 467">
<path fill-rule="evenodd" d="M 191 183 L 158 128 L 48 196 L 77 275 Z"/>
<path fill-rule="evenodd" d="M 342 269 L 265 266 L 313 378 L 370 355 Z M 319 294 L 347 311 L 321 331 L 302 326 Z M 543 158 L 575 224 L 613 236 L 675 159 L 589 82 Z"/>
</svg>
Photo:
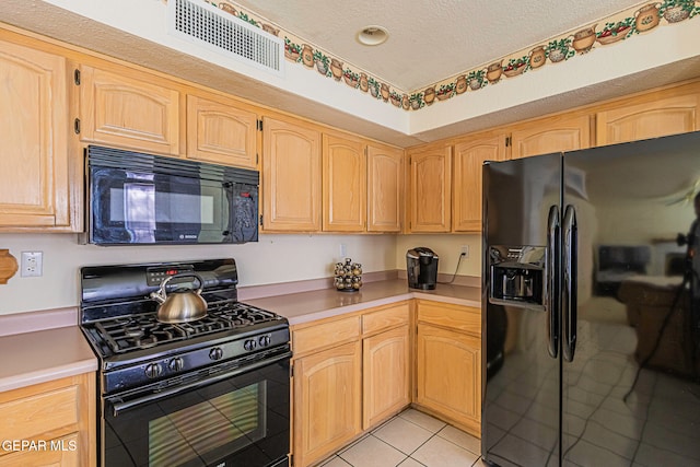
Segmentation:
<svg viewBox="0 0 700 467">
<path fill-rule="evenodd" d="M 558 466 L 561 154 L 487 163 L 483 200 L 483 459 Z"/>
</svg>

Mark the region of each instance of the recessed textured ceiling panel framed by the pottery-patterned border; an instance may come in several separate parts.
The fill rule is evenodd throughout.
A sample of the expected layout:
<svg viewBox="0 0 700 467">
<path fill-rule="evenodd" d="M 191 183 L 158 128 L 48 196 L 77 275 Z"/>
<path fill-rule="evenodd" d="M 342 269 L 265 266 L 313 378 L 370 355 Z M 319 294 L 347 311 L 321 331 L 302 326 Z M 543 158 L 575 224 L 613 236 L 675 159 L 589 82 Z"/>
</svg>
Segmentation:
<svg viewBox="0 0 700 467">
<path fill-rule="evenodd" d="M 214 1 L 215 2 L 215 1 Z M 419 90 L 640 0 L 236 0 L 281 28 L 404 91 Z M 389 39 L 360 45 L 355 34 L 384 26 Z"/>
</svg>

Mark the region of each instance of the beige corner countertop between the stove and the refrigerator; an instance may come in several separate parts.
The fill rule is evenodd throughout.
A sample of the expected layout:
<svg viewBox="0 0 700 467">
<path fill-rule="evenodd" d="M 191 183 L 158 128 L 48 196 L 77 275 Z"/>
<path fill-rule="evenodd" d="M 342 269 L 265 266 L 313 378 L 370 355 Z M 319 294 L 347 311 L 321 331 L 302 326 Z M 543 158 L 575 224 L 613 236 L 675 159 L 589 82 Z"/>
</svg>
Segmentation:
<svg viewBox="0 0 700 467">
<path fill-rule="evenodd" d="M 245 300 L 245 303 L 280 314 L 289 319 L 290 325 L 298 325 L 409 299 L 481 307 L 480 288 L 439 283 L 435 290 L 423 291 L 409 289 L 406 279 L 365 283 L 359 292 L 323 289 Z"/>
</svg>

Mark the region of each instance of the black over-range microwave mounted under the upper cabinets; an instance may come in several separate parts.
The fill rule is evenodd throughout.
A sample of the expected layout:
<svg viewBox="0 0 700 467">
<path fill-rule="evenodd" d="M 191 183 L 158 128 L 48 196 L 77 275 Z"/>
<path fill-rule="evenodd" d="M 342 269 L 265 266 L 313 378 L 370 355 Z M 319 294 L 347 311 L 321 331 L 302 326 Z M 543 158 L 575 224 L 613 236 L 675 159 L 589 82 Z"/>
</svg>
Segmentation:
<svg viewBox="0 0 700 467">
<path fill-rule="evenodd" d="M 86 243 L 258 240 L 257 171 L 90 145 L 85 174 Z"/>
</svg>

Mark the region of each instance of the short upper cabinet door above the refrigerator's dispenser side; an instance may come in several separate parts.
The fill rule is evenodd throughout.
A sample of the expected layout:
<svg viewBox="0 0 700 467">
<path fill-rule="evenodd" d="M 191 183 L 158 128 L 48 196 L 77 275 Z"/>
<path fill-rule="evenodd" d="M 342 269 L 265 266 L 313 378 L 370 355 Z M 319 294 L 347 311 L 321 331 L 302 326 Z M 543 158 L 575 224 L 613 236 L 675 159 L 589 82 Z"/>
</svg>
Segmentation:
<svg viewBox="0 0 700 467">
<path fill-rule="evenodd" d="M 591 148 L 591 118 L 557 116 L 513 127 L 511 159 Z"/>
</svg>

